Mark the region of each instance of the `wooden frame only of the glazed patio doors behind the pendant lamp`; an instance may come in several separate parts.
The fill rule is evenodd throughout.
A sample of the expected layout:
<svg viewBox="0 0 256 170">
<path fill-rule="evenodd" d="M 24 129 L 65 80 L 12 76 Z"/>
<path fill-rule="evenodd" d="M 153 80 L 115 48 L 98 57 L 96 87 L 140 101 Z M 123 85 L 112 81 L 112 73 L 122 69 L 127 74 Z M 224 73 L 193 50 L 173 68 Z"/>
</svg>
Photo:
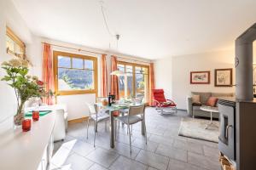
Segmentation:
<svg viewBox="0 0 256 170">
<path fill-rule="evenodd" d="M 118 65 L 131 65 L 132 66 L 132 95 L 135 96 L 136 95 L 136 67 L 143 67 L 143 68 L 147 68 L 148 69 L 148 87 L 147 87 L 147 92 L 149 93 L 149 65 L 141 65 L 141 64 L 136 64 L 136 63 L 130 63 L 130 62 L 126 62 L 126 61 L 117 61 Z M 148 94 L 147 94 L 148 95 Z M 148 99 L 148 98 L 147 98 Z M 146 102 L 146 104 L 148 104 L 148 101 Z"/>
</svg>

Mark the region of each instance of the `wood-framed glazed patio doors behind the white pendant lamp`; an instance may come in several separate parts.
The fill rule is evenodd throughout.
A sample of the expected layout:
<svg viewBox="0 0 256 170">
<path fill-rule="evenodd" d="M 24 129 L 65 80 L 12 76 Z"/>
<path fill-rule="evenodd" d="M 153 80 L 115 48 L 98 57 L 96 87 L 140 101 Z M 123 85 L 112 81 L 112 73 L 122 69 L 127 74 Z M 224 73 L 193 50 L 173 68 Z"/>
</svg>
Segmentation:
<svg viewBox="0 0 256 170">
<path fill-rule="evenodd" d="M 148 102 L 148 65 L 118 61 L 118 69 L 125 72 L 119 77 L 120 98 L 137 97 Z"/>
</svg>

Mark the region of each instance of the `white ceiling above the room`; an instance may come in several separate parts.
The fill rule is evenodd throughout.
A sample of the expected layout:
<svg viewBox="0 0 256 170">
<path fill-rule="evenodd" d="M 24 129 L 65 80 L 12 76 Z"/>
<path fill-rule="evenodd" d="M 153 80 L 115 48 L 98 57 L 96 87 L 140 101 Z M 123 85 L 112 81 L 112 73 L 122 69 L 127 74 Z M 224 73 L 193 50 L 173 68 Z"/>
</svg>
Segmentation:
<svg viewBox="0 0 256 170">
<path fill-rule="evenodd" d="M 230 49 L 256 22 L 256 0 L 13 0 L 41 37 L 147 59 Z M 111 42 L 111 48 L 109 48 Z"/>
</svg>

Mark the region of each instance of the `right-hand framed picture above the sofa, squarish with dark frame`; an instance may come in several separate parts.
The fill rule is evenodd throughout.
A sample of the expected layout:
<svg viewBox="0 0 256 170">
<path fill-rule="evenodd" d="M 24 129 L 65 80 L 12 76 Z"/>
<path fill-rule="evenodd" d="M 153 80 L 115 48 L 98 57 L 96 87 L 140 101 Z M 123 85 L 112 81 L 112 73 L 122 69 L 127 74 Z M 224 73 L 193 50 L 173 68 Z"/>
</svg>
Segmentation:
<svg viewBox="0 0 256 170">
<path fill-rule="evenodd" d="M 215 87 L 231 87 L 232 81 L 232 69 L 215 69 Z"/>
</svg>

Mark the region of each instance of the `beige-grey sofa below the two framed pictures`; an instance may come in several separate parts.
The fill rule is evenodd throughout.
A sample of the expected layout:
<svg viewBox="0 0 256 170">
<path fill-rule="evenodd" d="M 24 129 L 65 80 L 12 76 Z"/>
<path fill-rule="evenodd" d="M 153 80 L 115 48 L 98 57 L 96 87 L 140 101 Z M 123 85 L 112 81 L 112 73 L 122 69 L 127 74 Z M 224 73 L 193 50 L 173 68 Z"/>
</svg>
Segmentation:
<svg viewBox="0 0 256 170">
<path fill-rule="evenodd" d="M 188 111 L 189 116 L 210 117 L 210 114 L 207 111 L 201 111 L 200 105 L 192 105 L 192 96 L 193 95 L 200 95 L 201 105 L 206 105 L 207 99 L 209 99 L 209 97 L 211 97 L 211 96 L 217 97 L 218 99 L 233 99 L 233 98 L 235 98 L 234 93 L 191 92 L 191 94 L 187 97 L 187 111 Z M 218 118 L 218 113 L 213 113 L 212 117 Z"/>
</svg>

